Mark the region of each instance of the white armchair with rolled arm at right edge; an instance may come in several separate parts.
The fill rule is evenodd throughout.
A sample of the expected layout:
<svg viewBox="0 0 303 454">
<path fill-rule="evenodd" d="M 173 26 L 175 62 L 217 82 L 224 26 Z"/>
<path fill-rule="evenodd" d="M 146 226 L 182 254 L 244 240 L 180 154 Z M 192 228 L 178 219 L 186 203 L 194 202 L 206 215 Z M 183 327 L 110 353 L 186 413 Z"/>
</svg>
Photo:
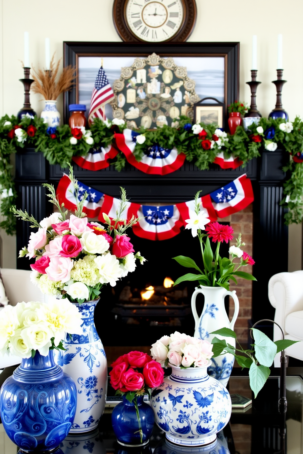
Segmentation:
<svg viewBox="0 0 303 454">
<path fill-rule="evenodd" d="M 278 273 L 268 282 L 268 298 L 276 309 L 274 321 L 283 329 L 285 339 L 303 341 L 303 271 Z M 273 341 L 282 339 L 277 325 L 273 326 Z M 286 349 L 286 355 L 303 361 L 303 343 L 298 342 Z M 280 367 L 280 353 L 274 359 Z"/>
</svg>

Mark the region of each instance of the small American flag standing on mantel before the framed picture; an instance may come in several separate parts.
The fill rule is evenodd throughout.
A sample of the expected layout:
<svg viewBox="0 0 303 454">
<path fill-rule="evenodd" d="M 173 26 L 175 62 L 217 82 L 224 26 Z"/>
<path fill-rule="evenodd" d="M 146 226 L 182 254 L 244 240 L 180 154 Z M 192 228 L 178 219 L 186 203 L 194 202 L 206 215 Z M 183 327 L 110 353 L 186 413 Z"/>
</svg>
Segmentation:
<svg viewBox="0 0 303 454">
<path fill-rule="evenodd" d="M 114 92 L 109 84 L 104 69 L 99 69 L 94 83 L 89 108 L 89 124 L 93 123 L 94 118 L 105 120 L 104 104 L 109 103 L 114 98 Z"/>
</svg>

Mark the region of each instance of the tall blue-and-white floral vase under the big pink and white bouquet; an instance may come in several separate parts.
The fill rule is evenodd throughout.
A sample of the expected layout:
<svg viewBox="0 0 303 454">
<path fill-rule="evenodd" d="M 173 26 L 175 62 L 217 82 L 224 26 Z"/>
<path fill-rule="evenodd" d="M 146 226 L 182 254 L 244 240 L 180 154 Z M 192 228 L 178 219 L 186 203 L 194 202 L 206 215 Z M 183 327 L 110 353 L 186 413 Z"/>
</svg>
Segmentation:
<svg viewBox="0 0 303 454">
<path fill-rule="evenodd" d="M 73 303 L 81 312 L 82 334 L 69 334 L 63 342 L 57 362 L 72 377 L 77 388 L 77 409 L 70 433 L 97 428 L 103 415 L 107 392 L 107 361 L 102 342 L 94 326 L 94 308 L 99 298 Z"/>
</svg>

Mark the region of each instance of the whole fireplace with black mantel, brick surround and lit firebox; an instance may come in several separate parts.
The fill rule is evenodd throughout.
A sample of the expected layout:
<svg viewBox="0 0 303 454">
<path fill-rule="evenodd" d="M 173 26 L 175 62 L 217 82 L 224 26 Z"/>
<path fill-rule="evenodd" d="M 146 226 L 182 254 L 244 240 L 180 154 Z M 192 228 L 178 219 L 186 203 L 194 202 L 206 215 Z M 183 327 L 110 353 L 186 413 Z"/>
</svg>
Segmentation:
<svg viewBox="0 0 303 454">
<path fill-rule="evenodd" d="M 191 200 L 198 190 L 202 190 L 203 195 L 207 194 L 247 173 L 253 184 L 255 201 L 245 210 L 219 219 L 220 222 L 228 222 L 236 235 L 242 232 L 243 241 L 247 243 L 245 249 L 256 261 L 253 274 L 258 282 L 252 284 L 239 280 L 238 286 L 231 284 L 231 290 L 237 290 L 240 302 L 236 331 L 240 340 L 245 342 L 250 319 L 257 321 L 273 317 L 273 308 L 267 297 L 269 278 L 274 273 L 287 271 L 288 229 L 284 226 L 283 209 L 279 205 L 285 179 L 282 166 L 286 159 L 286 153 L 277 150 L 264 151 L 261 158 L 250 161 L 245 168 L 235 170 L 223 170 L 212 165 L 208 171 L 199 171 L 193 164 L 186 162 L 174 173 L 156 176 L 146 175 L 129 164 L 120 173 L 112 167 L 92 172 L 74 164 L 74 173 L 81 182 L 101 192 L 119 197 L 119 186 L 123 186 L 133 202 L 152 205 Z M 45 188 L 41 185 L 53 183 L 56 187 L 62 171 L 59 166 L 52 166 L 45 161 L 42 153 L 35 153 L 30 148 L 21 150 L 16 156 L 18 207 L 26 209 L 38 219 L 49 215 L 52 206 L 47 202 Z M 18 222 L 17 251 L 28 242 L 29 235 L 30 227 Z M 163 334 L 175 330 L 193 334 L 190 296 L 197 283 L 183 283 L 174 290 L 179 293 L 172 295 L 170 290 L 163 290 L 163 282 L 165 277 L 175 281 L 187 272 L 172 257 L 182 254 L 197 262 L 201 260 L 197 238 L 192 238 L 190 232 L 184 230 L 170 240 L 158 242 L 135 237 L 133 232 L 130 236 L 135 249 L 142 252 L 148 262 L 143 266 L 138 265 L 134 273 L 115 287 L 107 286 L 102 290 L 95 322 L 104 344 L 150 345 Z M 225 256 L 228 246 L 224 243 L 222 254 Z M 270 257 L 270 266 L 266 257 Z M 17 267 L 29 269 L 29 262 L 17 259 Z M 149 286 L 154 287 L 154 294 L 149 302 L 144 302 L 141 292 Z M 127 293 L 128 298 L 125 296 Z M 203 305 L 202 296 L 197 304 L 199 313 Z M 233 306 L 229 316 L 232 316 L 232 312 Z"/>
</svg>

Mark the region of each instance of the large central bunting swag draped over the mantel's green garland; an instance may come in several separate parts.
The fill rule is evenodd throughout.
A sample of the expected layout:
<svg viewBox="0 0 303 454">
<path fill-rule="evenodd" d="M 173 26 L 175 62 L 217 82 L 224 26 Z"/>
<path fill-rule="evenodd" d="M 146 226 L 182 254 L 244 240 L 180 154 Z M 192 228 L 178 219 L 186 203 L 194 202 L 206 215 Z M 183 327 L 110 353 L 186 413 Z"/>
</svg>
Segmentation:
<svg viewBox="0 0 303 454">
<path fill-rule="evenodd" d="M 167 175 L 183 166 L 186 158 L 184 153 L 178 154 L 176 148 L 169 150 L 156 144 L 148 149 L 148 155 L 144 155 L 141 161 L 137 161 L 133 154 L 137 136 L 139 133 L 131 129 L 124 129 L 123 134 L 114 135 L 117 147 L 135 168 L 153 175 Z"/>
</svg>

